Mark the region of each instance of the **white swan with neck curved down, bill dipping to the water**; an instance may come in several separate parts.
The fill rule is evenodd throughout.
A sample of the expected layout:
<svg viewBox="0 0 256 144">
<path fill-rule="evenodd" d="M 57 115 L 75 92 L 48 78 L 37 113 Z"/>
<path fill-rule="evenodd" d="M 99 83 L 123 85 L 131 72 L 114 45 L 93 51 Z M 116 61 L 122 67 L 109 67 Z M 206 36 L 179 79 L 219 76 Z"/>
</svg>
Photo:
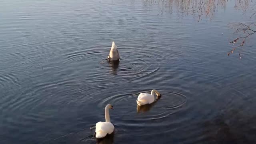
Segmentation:
<svg viewBox="0 0 256 144">
<path fill-rule="evenodd" d="M 137 104 L 139 106 L 142 106 L 142 105 L 145 105 L 145 104 L 151 104 L 155 100 L 154 93 L 156 93 L 157 96 L 161 96 L 161 94 L 156 90 L 152 90 L 151 94 L 140 93 L 140 95 L 137 98 Z"/>
</svg>

